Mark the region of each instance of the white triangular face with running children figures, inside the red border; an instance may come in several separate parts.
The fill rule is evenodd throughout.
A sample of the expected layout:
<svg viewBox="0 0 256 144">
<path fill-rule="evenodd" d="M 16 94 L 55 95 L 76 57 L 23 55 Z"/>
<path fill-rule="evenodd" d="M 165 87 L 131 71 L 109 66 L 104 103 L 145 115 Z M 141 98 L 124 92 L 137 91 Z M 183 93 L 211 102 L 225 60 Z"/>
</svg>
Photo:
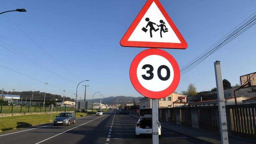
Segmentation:
<svg viewBox="0 0 256 144">
<path fill-rule="evenodd" d="M 128 41 L 181 43 L 155 2 L 151 4 Z"/>
</svg>

